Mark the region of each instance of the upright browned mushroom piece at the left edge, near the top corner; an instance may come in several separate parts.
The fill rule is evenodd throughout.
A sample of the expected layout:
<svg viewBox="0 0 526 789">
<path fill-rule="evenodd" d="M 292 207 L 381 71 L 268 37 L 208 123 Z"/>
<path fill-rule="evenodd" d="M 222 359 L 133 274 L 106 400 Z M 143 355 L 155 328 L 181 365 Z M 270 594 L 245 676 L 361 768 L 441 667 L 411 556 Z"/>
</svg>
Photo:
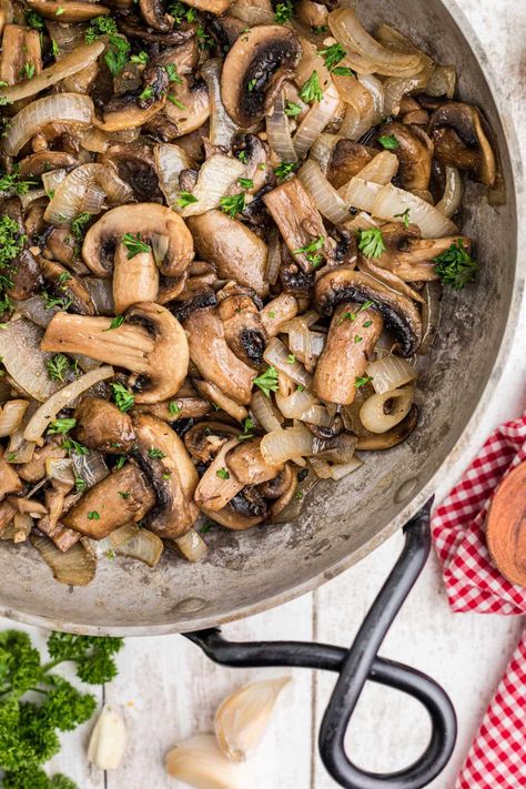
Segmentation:
<svg viewBox="0 0 526 789">
<path fill-rule="evenodd" d="M 6 24 L 0 54 L 0 80 L 13 85 L 42 71 L 38 30 Z"/>
</svg>

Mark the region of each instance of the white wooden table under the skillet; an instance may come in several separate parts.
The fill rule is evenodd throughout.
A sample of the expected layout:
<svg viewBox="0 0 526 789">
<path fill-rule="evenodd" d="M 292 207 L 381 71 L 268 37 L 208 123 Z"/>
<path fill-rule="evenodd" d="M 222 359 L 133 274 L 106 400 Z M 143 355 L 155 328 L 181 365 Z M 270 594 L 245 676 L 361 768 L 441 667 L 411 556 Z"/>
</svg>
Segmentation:
<svg viewBox="0 0 526 789">
<path fill-rule="evenodd" d="M 486 47 L 497 77 L 502 77 L 509 109 L 524 140 L 526 4 L 517 0 L 463 0 L 461 4 Z M 525 337 L 526 315 L 523 315 L 499 396 L 488 409 L 481 432 L 481 443 L 494 425 L 519 415 L 526 407 Z M 454 469 L 453 474 L 461 471 Z M 226 635 L 240 639 L 294 638 L 348 644 L 401 546 L 402 535 L 397 534 L 317 591 L 230 625 L 224 628 Z M 0 624 L 10 626 L 7 620 Z M 457 710 L 457 747 L 449 766 L 433 782 L 435 789 L 453 787 L 454 776 L 520 628 L 518 618 L 452 615 L 433 557 L 388 634 L 382 654 L 431 674 L 451 694 Z M 31 631 L 43 643 L 43 634 Z M 124 765 L 107 776 L 87 766 L 89 725 L 64 735 L 62 750 L 51 762 L 53 771 L 63 770 L 81 789 L 182 789 L 183 785 L 164 773 L 166 750 L 195 730 L 210 730 L 213 711 L 227 692 L 244 681 L 270 675 L 270 671 L 213 666 L 179 636 L 129 639 L 119 665 L 119 677 L 104 689 L 104 695 L 122 708 L 127 719 L 129 747 Z M 254 759 L 251 789 L 257 782 L 264 789 L 334 789 L 336 785 L 324 772 L 316 750 L 317 728 L 334 678 L 306 670 L 292 675 L 294 682 L 285 691 L 280 711 Z M 371 685 L 363 694 L 347 735 L 353 758 L 373 770 L 407 765 L 423 750 L 427 736 L 426 715 L 416 702 Z"/>
</svg>

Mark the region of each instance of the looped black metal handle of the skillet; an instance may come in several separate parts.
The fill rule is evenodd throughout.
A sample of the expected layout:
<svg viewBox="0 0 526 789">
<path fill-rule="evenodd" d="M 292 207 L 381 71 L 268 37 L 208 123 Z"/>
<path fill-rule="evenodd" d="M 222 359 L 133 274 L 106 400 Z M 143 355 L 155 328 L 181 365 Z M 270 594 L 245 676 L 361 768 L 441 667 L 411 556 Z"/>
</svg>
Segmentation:
<svg viewBox="0 0 526 789">
<path fill-rule="evenodd" d="M 347 789 L 419 789 L 445 767 L 456 739 L 456 717 L 446 692 L 431 677 L 376 653 L 427 559 L 432 502 L 405 526 L 405 545 L 360 628 L 351 649 L 305 641 L 226 641 L 218 628 L 184 634 L 215 662 L 233 667 L 295 666 L 337 671 L 338 679 L 320 729 L 320 753 L 332 777 Z M 366 680 L 413 696 L 427 709 L 432 736 L 409 767 L 386 775 L 358 769 L 344 737 Z"/>
</svg>

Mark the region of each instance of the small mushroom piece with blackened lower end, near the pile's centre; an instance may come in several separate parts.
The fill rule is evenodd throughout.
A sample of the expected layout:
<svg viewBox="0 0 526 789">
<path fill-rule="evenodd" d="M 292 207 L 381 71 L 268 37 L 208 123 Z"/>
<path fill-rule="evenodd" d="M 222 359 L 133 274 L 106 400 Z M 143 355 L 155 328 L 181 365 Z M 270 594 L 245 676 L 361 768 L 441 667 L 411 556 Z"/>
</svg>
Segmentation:
<svg viewBox="0 0 526 789">
<path fill-rule="evenodd" d="M 218 293 L 218 313 L 231 351 L 249 365 L 260 365 L 267 336 L 257 306 L 250 294 L 235 285 Z"/>
</svg>

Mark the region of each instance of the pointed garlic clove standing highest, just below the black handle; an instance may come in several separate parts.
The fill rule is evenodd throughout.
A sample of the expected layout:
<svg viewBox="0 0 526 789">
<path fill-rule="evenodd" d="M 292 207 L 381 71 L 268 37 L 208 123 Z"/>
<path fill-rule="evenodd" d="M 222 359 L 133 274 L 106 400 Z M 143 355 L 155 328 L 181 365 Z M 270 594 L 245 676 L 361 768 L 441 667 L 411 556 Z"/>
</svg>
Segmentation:
<svg viewBox="0 0 526 789">
<path fill-rule="evenodd" d="M 232 761 L 245 761 L 265 734 L 281 691 L 291 677 L 244 685 L 224 699 L 215 712 L 215 736 Z"/>
</svg>

